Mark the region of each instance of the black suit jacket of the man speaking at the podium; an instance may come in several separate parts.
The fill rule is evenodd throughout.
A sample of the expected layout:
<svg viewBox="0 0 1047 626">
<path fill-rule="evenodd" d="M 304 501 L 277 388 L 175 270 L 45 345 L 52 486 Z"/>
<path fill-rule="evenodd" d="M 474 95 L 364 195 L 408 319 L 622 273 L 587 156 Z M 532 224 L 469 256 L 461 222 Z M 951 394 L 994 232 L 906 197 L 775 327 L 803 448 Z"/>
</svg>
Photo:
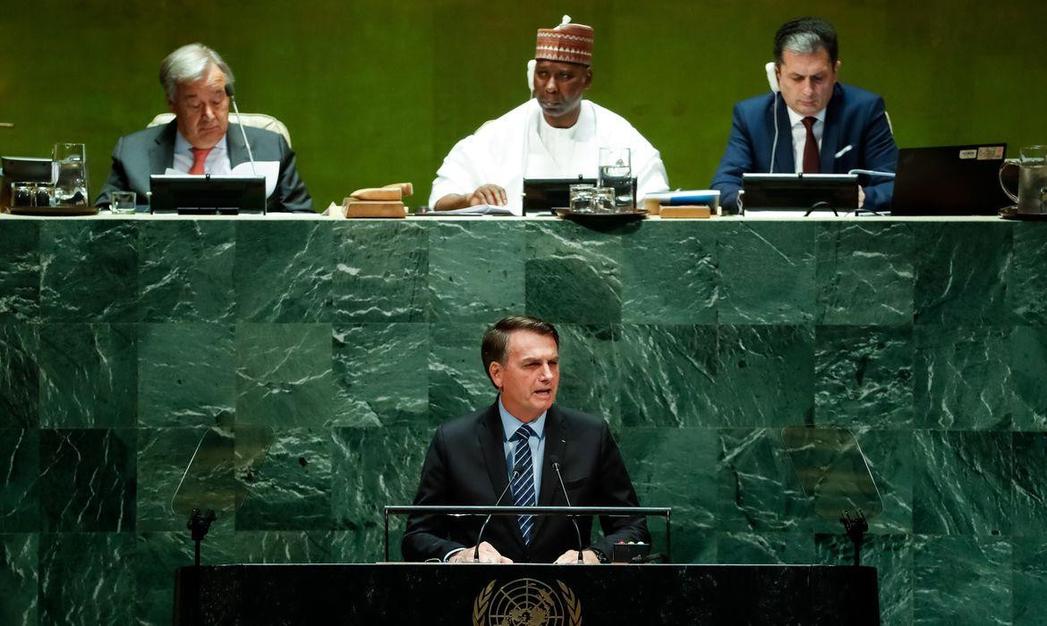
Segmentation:
<svg viewBox="0 0 1047 626">
<path fill-rule="evenodd" d="M 607 423 L 599 418 L 553 405 L 545 413 L 545 452 L 542 459 L 538 506 L 566 505 L 550 459 L 559 456 L 563 483 L 576 507 L 639 506 L 632 482 L 622 463 Z M 509 484 L 497 402 L 478 412 L 440 426 L 422 468 L 416 505 L 493 506 Z M 512 493 L 504 506 L 512 505 Z M 442 559 L 456 547 L 476 543 L 483 517 L 414 515 L 401 544 L 408 561 Z M 604 537 L 592 544 L 608 557 L 619 541 L 650 541 L 643 517 L 602 517 Z M 579 517 L 583 545 L 589 546 L 591 517 Z M 537 516 L 531 545 L 511 515 L 496 515 L 484 532 L 503 556 L 514 562 L 549 563 L 578 545 L 575 529 L 564 516 Z"/>
</svg>

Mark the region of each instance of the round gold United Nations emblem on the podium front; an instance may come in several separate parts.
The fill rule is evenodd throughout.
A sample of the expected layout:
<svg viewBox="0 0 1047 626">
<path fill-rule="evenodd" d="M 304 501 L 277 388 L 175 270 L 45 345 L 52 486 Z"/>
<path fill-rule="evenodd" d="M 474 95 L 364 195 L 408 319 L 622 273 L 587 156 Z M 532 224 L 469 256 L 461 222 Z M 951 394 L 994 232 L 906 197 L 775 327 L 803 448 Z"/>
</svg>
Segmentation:
<svg viewBox="0 0 1047 626">
<path fill-rule="evenodd" d="M 473 626 L 580 626 L 582 603 L 571 587 L 556 581 L 559 591 L 533 578 L 520 578 L 494 588 L 492 580 L 472 603 Z"/>
</svg>

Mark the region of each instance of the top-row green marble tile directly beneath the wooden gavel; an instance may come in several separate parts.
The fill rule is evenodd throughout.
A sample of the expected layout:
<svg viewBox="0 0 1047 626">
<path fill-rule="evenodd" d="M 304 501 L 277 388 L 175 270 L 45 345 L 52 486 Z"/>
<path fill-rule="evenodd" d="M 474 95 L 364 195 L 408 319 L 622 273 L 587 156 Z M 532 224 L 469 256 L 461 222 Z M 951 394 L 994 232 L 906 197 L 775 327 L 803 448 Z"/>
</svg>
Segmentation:
<svg viewBox="0 0 1047 626">
<path fill-rule="evenodd" d="M 325 224 L 331 228 L 331 224 Z M 429 224 L 396 220 L 333 225 L 334 320 L 425 321 Z"/>
</svg>

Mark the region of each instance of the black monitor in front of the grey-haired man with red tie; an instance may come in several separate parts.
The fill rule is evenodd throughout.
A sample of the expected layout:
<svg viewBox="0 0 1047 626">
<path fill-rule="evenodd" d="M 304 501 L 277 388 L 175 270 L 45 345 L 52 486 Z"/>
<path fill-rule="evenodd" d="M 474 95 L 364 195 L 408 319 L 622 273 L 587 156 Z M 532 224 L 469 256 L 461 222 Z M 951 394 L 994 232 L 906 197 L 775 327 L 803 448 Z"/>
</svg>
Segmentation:
<svg viewBox="0 0 1047 626">
<path fill-rule="evenodd" d="M 150 210 L 156 214 L 265 215 L 265 176 L 153 175 Z"/>
</svg>

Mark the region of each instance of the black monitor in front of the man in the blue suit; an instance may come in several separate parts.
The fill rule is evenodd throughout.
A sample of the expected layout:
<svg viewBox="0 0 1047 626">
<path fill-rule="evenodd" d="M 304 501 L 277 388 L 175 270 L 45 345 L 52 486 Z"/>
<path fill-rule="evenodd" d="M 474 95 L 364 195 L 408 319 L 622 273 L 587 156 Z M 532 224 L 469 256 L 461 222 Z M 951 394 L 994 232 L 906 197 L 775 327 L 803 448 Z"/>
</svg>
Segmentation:
<svg viewBox="0 0 1047 626">
<path fill-rule="evenodd" d="M 750 210 L 854 210 L 856 174 L 742 174 L 742 207 Z"/>
</svg>

